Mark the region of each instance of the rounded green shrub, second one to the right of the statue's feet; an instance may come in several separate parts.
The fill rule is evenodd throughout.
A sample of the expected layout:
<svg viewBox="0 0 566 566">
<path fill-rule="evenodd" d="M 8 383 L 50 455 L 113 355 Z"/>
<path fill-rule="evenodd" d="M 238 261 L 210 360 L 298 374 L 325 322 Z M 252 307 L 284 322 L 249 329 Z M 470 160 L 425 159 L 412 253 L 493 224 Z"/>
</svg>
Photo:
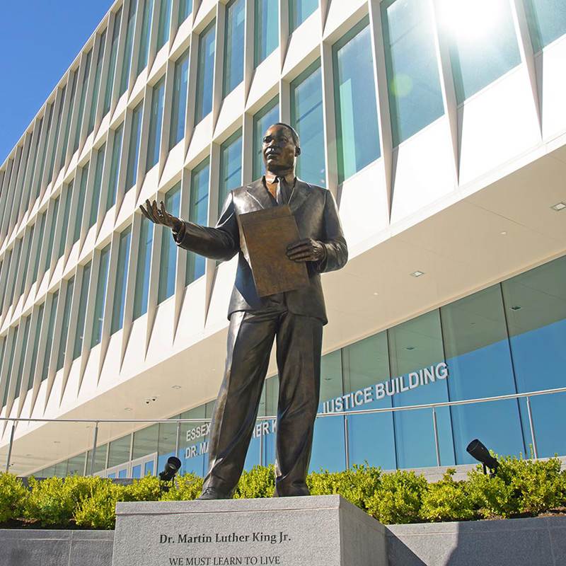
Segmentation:
<svg viewBox="0 0 566 566">
<path fill-rule="evenodd" d="M 379 490 L 367 502 L 367 512 L 383 524 L 416 523 L 426 489 L 427 480 L 415 472 L 383 474 Z"/>
</svg>

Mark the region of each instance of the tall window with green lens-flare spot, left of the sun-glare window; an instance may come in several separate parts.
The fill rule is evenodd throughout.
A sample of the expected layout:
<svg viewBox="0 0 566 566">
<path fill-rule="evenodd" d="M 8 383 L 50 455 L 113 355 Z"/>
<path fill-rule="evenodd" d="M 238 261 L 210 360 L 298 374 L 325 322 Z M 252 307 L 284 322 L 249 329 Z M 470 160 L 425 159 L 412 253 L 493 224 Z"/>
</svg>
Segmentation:
<svg viewBox="0 0 566 566">
<path fill-rule="evenodd" d="M 381 4 L 393 145 L 444 114 L 430 5 L 419 0 Z"/>
</svg>

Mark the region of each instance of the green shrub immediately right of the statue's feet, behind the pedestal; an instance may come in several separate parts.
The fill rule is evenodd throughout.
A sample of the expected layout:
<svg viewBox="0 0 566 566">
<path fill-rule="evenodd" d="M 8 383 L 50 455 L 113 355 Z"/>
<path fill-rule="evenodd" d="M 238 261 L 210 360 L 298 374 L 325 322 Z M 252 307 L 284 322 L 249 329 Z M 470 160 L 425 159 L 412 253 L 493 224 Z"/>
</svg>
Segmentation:
<svg viewBox="0 0 566 566">
<path fill-rule="evenodd" d="M 381 470 L 367 463 L 354 464 L 343 472 L 313 472 L 306 480 L 311 495 L 342 495 L 350 503 L 364 511 L 369 499 L 379 490 Z"/>
</svg>

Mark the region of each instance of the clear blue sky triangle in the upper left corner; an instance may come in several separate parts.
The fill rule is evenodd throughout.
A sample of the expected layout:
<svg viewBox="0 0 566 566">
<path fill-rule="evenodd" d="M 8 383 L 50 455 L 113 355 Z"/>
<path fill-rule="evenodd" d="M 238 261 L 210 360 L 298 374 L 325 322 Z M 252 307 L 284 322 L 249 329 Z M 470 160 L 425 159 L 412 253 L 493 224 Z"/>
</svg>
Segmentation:
<svg viewBox="0 0 566 566">
<path fill-rule="evenodd" d="M 112 0 L 4 1 L 0 8 L 0 164 Z"/>
</svg>

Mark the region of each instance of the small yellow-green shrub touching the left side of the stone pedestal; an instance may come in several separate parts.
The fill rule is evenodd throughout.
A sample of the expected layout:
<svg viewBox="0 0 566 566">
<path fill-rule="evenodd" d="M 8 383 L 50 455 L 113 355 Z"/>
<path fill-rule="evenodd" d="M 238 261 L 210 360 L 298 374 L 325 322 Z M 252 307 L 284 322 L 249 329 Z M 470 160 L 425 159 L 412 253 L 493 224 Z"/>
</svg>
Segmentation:
<svg viewBox="0 0 566 566">
<path fill-rule="evenodd" d="M 123 499 L 125 488 L 110 480 L 101 480 L 74 511 L 77 525 L 86 529 L 114 529 L 116 502 Z"/>
</svg>

